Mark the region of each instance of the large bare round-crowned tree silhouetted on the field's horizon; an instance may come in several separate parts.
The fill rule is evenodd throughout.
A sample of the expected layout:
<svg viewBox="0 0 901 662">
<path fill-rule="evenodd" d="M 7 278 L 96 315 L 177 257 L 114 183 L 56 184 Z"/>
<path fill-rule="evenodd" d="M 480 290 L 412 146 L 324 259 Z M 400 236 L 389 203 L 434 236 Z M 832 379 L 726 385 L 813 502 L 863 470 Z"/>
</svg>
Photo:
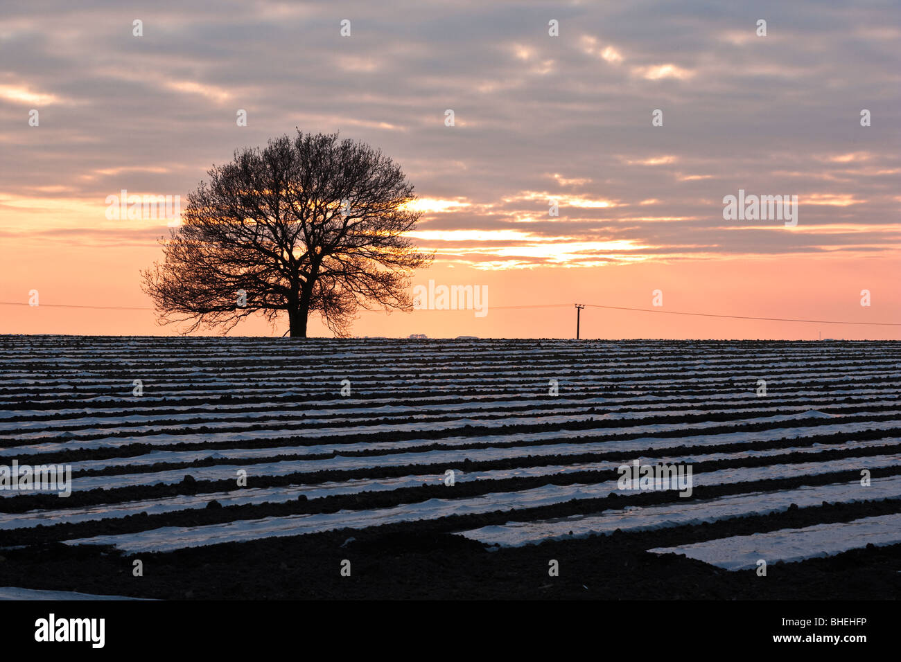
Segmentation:
<svg viewBox="0 0 901 662">
<path fill-rule="evenodd" d="M 208 174 L 161 241 L 163 262 L 142 272 L 160 323 L 228 332 L 250 314 L 273 325 L 287 314 L 305 338 L 316 312 L 346 336 L 360 307 L 412 308 L 409 278 L 432 255 L 405 235 L 420 215 L 413 186 L 380 150 L 298 130 Z"/>
</svg>

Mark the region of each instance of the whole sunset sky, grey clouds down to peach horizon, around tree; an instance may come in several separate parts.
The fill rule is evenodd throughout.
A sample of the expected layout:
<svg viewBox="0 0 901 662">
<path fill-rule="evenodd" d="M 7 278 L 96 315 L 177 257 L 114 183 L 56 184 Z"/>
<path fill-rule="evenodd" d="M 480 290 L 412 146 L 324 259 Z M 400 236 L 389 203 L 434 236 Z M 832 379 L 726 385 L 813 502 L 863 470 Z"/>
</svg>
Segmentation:
<svg viewBox="0 0 901 662">
<path fill-rule="evenodd" d="M 108 219 L 108 196 L 185 198 L 299 127 L 404 168 L 435 253 L 411 286 L 487 293 L 485 314 L 361 313 L 355 335 L 566 338 L 580 303 L 654 311 L 587 308 L 583 338 L 901 338 L 899 19 L 878 1 L 6 3 L 0 333 L 177 333 L 139 275 L 167 221 Z M 796 224 L 725 218 L 740 190 L 796 195 Z M 506 307 L 539 304 L 561 305 Z"/>
</svg>

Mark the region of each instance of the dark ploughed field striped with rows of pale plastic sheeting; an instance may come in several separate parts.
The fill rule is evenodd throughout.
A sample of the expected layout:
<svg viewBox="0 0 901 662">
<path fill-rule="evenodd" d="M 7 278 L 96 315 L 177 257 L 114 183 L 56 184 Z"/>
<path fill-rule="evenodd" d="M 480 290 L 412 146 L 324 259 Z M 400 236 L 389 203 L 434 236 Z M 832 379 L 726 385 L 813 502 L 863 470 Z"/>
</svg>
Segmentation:
<svg viewBox="0 0 901 662">
<path fill-rule="evenodd" d="M 0 366 L 0 467 L 72 472 L 0 490 L 0 587 L 901 593 L 898 342 L 0 336 Z"/>
</svg>

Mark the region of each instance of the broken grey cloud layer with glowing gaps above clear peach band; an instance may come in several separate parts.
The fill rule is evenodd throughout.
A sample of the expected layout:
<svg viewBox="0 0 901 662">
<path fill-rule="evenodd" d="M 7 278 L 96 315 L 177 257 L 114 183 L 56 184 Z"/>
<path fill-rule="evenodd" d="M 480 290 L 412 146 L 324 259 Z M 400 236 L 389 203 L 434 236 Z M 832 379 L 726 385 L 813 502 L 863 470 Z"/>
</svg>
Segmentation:
<svg viewBox="0 0 901 662">
<path fill-rule="evenodd" d="M 106 195 L 184 197 L 234 150 L 297 126 L 396 159 L 419 195 L 419 236 L 454 264 L 895 251 L 896 8 L 761 2 L 765 38 L 741 7 L 713 2 L 350 2 L 341 15 L 161 2 L 140 38 L 99 0 L 8 8 L 3 229 L 75 241 L 80 227 L 78 241 L 105 245 Z M 797 231 L 726 227 L 722 199 L 739 189 L 798 195 Z M 123 237 L 151 246 L 151 234 Z"/>
</svg>

